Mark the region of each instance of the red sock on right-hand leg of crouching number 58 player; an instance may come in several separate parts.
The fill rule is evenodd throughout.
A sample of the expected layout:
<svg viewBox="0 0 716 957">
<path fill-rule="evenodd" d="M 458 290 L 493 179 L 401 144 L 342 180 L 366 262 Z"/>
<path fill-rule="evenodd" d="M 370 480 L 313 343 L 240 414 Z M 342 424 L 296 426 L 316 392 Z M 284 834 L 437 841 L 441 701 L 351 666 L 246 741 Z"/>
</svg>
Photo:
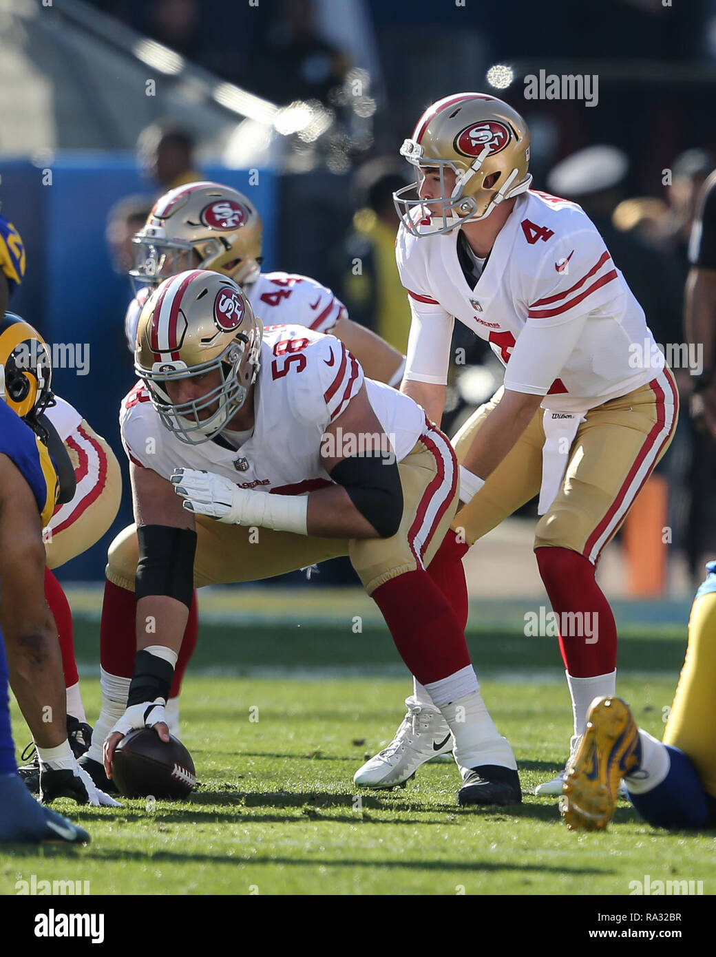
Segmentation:
<svg viewBox="0 0 716 957">
<path fill-rule="evenodd" d="M 403 661 L 421 684 L 470 664 L 458 616 L 427 571 L 407 571 L 372 594 Z"/>
</svg>

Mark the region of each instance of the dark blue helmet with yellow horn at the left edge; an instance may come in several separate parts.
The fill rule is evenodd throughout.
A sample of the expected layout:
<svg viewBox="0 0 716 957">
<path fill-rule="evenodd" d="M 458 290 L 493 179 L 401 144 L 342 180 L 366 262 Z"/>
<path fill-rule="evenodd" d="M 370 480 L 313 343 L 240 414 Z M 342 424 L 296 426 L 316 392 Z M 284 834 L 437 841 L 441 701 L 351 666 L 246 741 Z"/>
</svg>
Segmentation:
<svg viewBox="0 0 716 957">
<path fill-rule="evenodd" d="M 37 417 L 55 405 L 52 374 L 50 349 L 39 332 L 6 313 L 0 321 L 0 398 L 38 434 Z"/>
</svg>

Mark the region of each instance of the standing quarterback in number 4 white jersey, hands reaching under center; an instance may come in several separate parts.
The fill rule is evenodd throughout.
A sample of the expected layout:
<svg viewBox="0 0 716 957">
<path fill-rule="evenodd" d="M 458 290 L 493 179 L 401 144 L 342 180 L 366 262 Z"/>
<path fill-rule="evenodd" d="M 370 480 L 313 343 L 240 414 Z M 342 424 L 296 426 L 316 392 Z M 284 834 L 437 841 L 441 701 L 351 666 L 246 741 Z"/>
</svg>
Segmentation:
<svg viewBox="0 0 716 957">
<path fill-rule="evenodd" d="M 455 318 L 505 367 L 503 388 L 454 437 L 462 507 L 433 574 L 464 624 L 460 559 L 540 493 L 534 548 L 568 625 L 559 644 L 573 753 L 593 698 L 615 693 L 615 619 L 594 572 L 674 434 L 674 378 L 591 220 L 529 189 L 529 131 L 515 110 L 478 93 L 446 97 L 400 152 L 416 173 L 414 187 L 394 194 L 413 311 L 401 389 L 440 421 Z M 358 770 L 357 784 L 397 784 L 435 753 L 448 728 L 419 682 L 408 704 L 392 745 Z M 563 774 L 537 793 L 561 793 Z"/>
</svg>

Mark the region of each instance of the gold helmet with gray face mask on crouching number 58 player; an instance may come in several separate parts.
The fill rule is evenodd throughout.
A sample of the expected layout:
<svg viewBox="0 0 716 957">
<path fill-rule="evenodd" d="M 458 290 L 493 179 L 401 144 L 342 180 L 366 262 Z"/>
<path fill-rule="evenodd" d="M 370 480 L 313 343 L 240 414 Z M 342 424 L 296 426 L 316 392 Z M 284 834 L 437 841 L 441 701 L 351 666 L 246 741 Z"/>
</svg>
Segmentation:
<svg viewBox="0 0 716 957">
<path fill-rule="evenodd" d="M 221 432 L 256 381 L 263 324 L 236 283 L 189 270 L 165 279 L 146 300 L 137 328 L 134 369 L 169 432 L 199 445 Z M 219 385 L 174 405 L 169 382 L 217 369 Z"/>
</svg>

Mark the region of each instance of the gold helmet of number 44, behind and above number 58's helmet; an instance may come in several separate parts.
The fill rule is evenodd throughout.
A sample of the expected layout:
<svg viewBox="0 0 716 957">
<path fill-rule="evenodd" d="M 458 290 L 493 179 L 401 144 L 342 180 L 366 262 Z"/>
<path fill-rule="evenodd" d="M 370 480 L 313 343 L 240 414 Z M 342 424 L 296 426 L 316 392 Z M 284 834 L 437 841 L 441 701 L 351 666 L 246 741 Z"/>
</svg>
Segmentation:
<svg viewBox="0 0 716 957">
<path fill-rule="evenodd" d="M 263 223 L 254 205 L 219 183 L 169 189 L 135 234 L 133 286 L 157 286 L 187 269 L 211 269 L 248 285 L 257 279 Z"/>
</svg>

